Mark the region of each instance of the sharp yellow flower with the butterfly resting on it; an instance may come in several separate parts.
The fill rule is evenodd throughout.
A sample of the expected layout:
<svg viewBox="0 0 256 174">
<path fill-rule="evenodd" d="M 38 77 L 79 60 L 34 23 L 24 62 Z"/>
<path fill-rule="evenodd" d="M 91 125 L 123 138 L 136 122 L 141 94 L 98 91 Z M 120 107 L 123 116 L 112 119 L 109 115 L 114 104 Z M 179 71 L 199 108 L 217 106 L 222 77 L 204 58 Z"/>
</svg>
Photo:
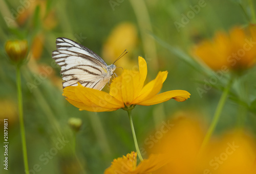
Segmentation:
<svg viewBox="0 0 256 174">
<path fill-rule="evenodd" d="M 184 90 L 172 90 L 158 94 L 167 77 L 167 71 L 160 71 L 156 79 L 143 86 L 146 75 L 146 61 L 139 57 L 139 71 L 123 70 L 121 76 L 111 83 L 109 93 L 78 84 L 78 86 L 64 88 L 62 95 L 80 110 L 93 112 L 115 111 L 135 105 L 150 106 L 171 98 L 183 102 L 189 98 L 190 93 Z"/>
</svg>

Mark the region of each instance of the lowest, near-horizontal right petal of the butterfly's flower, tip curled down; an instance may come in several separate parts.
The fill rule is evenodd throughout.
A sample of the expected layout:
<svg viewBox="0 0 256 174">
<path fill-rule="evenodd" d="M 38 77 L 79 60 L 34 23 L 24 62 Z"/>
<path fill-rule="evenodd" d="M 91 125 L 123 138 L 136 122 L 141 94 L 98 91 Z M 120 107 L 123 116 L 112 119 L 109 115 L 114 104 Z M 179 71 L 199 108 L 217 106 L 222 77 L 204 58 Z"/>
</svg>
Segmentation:
<svg viewBox="0 0 256 174">
<path fill-rule="evenodd" d="M 172 91 L 167 91 L 163 92 L 160 94 L 157 94 L 148 100 L 142 101 L 140 103 L 137 103 L 138 105 L 143 105 L 143 106 L 150 106 L 150 105 L 156 105 L 162 102 L 166 102 L 170 100 L 171 98 L 174 98 L 174 100 L 178 102 L 183 102 L 189 98 L 190 93 L 184 90 L 172 90 Z"/>
</svg>

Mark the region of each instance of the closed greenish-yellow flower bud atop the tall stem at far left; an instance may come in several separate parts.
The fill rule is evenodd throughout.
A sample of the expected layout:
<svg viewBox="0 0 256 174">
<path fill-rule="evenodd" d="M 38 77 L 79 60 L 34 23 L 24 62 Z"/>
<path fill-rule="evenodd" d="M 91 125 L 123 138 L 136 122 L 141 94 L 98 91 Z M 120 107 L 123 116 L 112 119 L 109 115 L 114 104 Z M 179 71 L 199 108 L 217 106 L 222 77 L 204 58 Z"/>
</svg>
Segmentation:
<svg viewBox="0 0 256 174">
<path fill-rule="evenodd" d="M 13 62 L 25 60 L 28 52 L 27 40 L 8 40 L 5 44 L 5 51 Z"/>
</svg>

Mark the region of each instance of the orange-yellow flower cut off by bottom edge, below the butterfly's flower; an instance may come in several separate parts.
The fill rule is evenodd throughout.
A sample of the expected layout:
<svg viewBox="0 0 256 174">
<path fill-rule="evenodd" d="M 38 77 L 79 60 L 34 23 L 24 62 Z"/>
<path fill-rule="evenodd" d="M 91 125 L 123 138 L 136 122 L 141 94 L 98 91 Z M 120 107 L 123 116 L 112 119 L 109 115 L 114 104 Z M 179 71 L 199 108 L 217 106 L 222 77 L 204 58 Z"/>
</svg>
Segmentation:
<svg viewBox="0 0 256 174">
<path fill-rule="evenodd" d="M 146 174 L 151 173 L 166 164 L 166 158 L 162 155 L 151 155 L 137 165 L 137 153 L 132 152 L 122 158 L 114 159 L 112 165 L 104 174 Z"/>
</svg>

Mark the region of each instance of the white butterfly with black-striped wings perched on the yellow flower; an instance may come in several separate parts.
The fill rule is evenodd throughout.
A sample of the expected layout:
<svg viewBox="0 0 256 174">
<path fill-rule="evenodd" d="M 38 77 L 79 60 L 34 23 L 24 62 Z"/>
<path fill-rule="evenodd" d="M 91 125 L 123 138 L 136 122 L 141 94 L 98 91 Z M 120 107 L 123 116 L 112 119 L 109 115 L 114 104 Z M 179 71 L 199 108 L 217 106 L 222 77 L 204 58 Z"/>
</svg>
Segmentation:
<svg viewBox="0 0 256 174">
<path fill-rule="evenodd" d="M 56 39 L 56 50 L 52 58 L 61 67 L 60 73 L 63 88 L 82 86 L 101 90 L 108 83 L 116 69 L 116 65 L 107 65 L 91 49 L 67 38 Z M 118 59 L 117 59 L 118 60 Z"/>
</svg>

